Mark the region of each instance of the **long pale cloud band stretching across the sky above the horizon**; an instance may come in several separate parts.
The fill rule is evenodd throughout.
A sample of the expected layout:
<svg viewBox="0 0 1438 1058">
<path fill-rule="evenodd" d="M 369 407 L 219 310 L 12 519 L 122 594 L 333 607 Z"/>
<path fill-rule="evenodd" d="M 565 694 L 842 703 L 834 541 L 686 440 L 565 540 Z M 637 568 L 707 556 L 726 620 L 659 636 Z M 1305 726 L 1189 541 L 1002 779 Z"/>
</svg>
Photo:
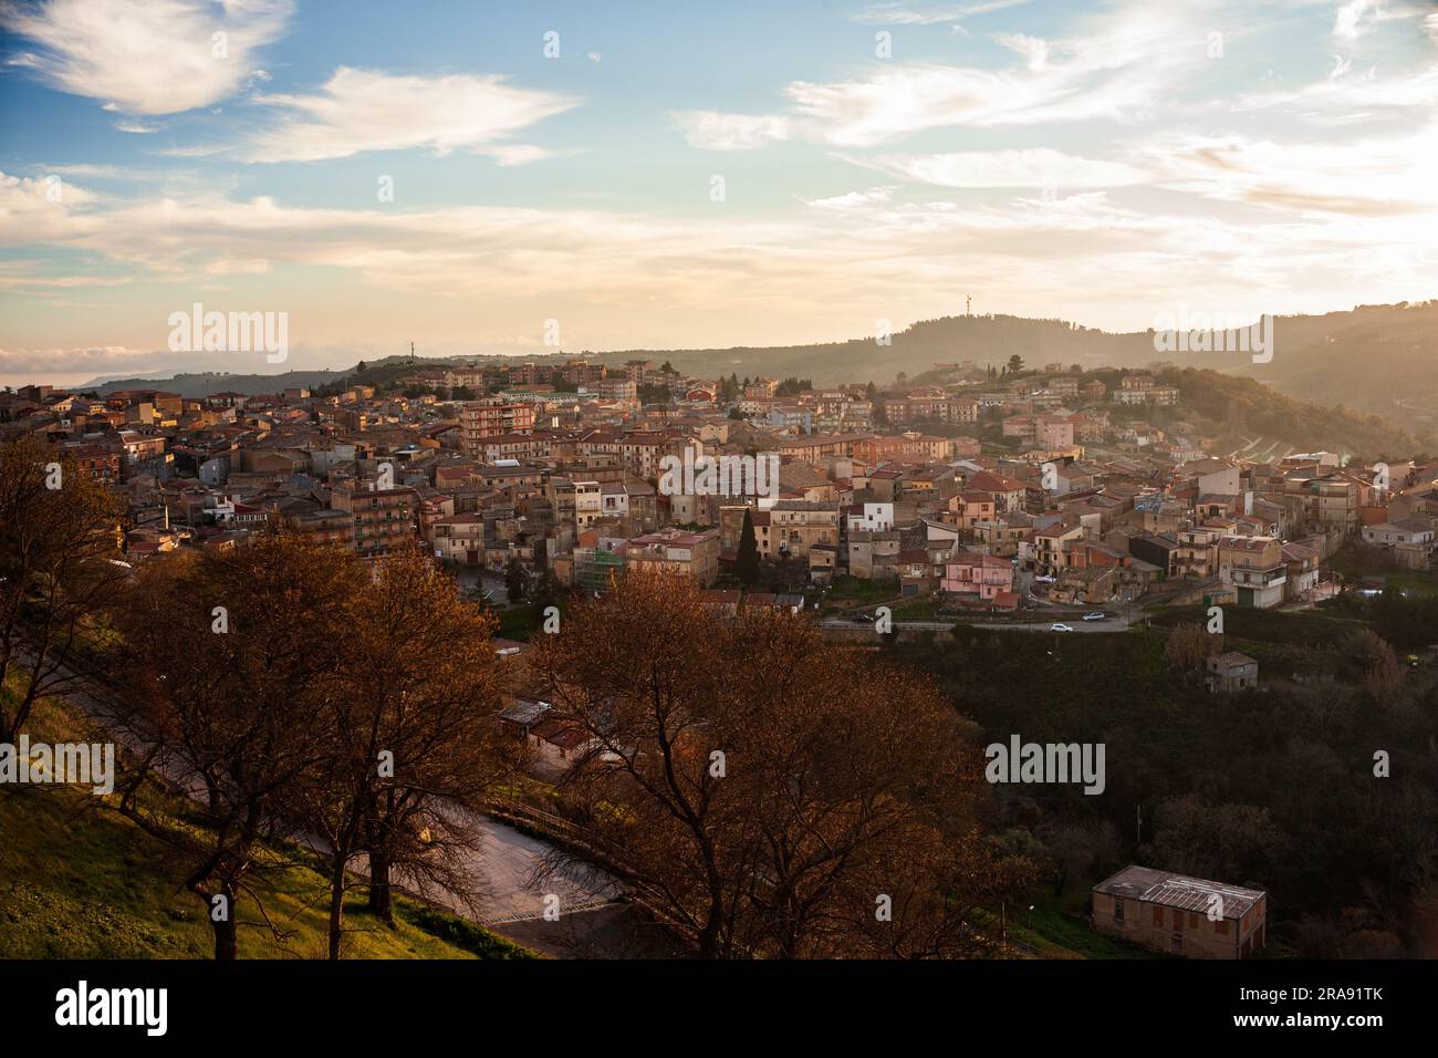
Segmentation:
<svg viewBox="0 0 1438 1058">
<path fill-rule="evenodd" d="M 39 238 L 33 184 L 0 177 L 0 246 L 43 242 L 85 250 L 104 262 L 104 275 L 119 266 L 147 288 L 168 285 L 177 304 L 216 276 L 234 276 L 246 284 L 244 304 L 260 298 L 265 307 L 286 308 L 286 299 L 298 298 L 298 309 L 315 304 L 315 292 L 302 286 L 308 269 L 345 269 L 355 282 L 342 286 L 362 295 L 322 322 L 306 317 L 306 334 L 326 331 L 328 341 L 355 334 L 360 307 L 413 320 L 453 304 L 462 321 L 477 295 L 495 308 L 495 327 L 607 314 L 615 335 L 637 341 L 634 328 L 649 328 L 651 340 L 667 334 L 669 344 L 781 340 L 774 337 L 779 309 L 785 334 L 800 335 L 831 333 L 841 320 L 858 333 L 879 317 L 935 315 L 953 308 L 945 292 L 953 291 L 955 276 L 1004 311 L 1053 315 L 1060 309 L 1054 292 L 1067 291 L 1063 311 L 1086 321 L 1123 318 L 1135 305 L 1255 292 L 1283 295 L 1286 308 L 1332 308 L 1352 299 L 1355 284 L 1365 298 L 1419 297 L 1438 245 L 1438 206 L 1396 214 L 1376 203 L 1418 187 L 1416 173 L 1386 180 L 1380 170 L 1403 148 L 1425 157 L 1425 144 L 1389 145 L 1372 171 L 1357 157 L 1343 170 L 1336 154 L 1241 150 L 1247 147 L 1205 157 L 1202 144 L 1172 144 L 1155 147 L 1153 155 L 1179 158 L 1169 186 L 1237 203 L 1225 209 L 1264 206 L 1274 212 L 1268 222 L 1255 212 L 1224 217 L 1212 207 L 1139 209 L 1102 191 L 900 203 L 886 186 L 820 199 L 782 222 L 498 206 L 318 209 L 194 191 L 161 200 L 81 199 L 55 209 Z M 1277 183 L 1290 154 L 1299 168 L 1314 170 L 1310 183 Z M 1221 174 L 1235 168 L 1238 176 L 1224 183 Z M 1368 180 L 1369 202 L 1340 209 L 1345 203 L 1327 194 L 1339 187 L 1330 180 L 1347 181 L 1350 193 Z M 1074 291 L 1074 269 L 1103 275 L 1103 289 L 1090 284 Z M 1195 292 L 1198 286 L 1204 289 Z M 157 327 L 167 305 L 155 309 Z M 1148 320 L 1152 308 L 1137 315 Z M 106 334 L 135 347 L 162 337 Z"/>
</svg>

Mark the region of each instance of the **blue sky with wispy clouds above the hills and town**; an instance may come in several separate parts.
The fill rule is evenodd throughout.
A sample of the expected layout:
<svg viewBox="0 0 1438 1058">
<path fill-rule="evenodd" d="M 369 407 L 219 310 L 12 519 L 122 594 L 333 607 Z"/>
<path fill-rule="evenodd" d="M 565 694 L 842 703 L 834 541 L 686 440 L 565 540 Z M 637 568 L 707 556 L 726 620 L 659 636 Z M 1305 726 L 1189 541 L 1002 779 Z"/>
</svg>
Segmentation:
<svg viewBox="0 0 1438 1058">
<path fill-rule="evenodd" d="M 1435 163 L 1434 3 L 0 0 L 0 384 L 1418 301 Z"/>
</svg>

